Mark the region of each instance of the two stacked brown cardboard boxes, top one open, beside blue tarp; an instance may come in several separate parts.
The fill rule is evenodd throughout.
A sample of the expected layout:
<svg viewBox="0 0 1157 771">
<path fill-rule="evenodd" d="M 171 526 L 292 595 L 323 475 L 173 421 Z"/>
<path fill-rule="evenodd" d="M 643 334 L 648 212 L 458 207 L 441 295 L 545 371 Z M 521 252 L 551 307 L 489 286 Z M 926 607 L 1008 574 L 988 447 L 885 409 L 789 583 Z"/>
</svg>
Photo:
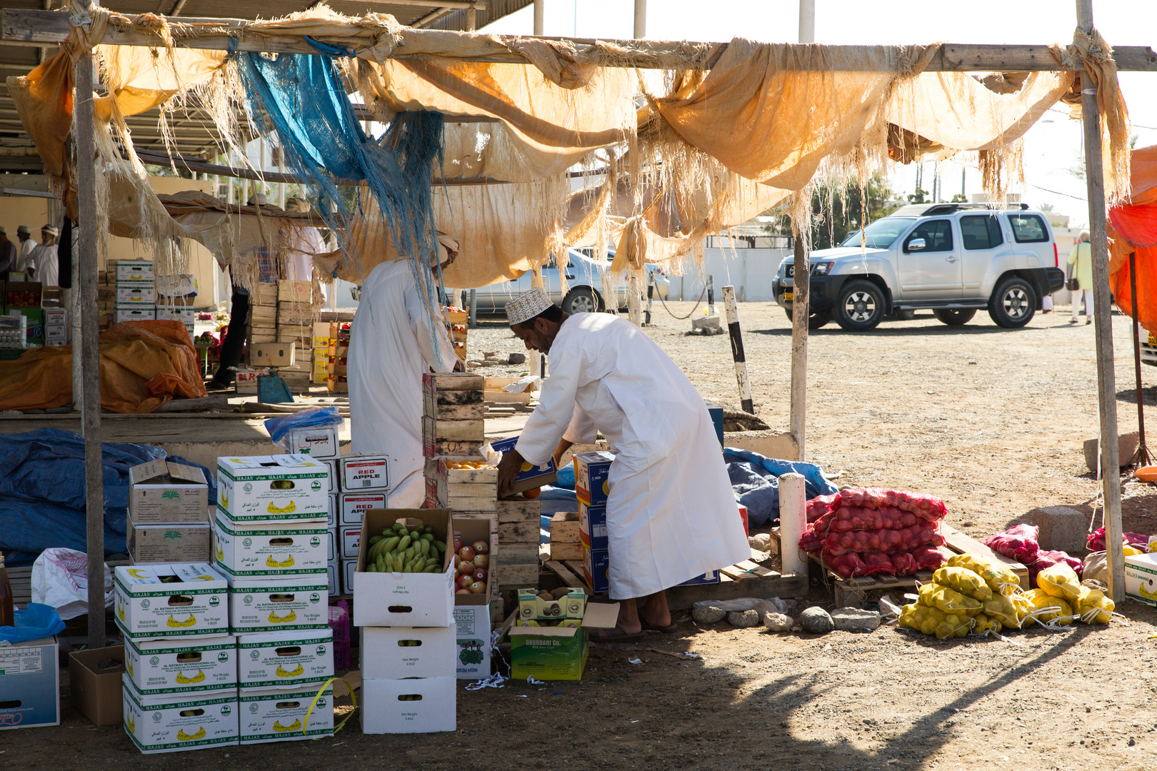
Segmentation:
<svg viewBox="0 0 1157 771">
<path fill-rule="evenodd" d="M 126 541 L 133 564 L 209 562 L 208 480 L 164 459 L 128 469 Z"/>
</svg>

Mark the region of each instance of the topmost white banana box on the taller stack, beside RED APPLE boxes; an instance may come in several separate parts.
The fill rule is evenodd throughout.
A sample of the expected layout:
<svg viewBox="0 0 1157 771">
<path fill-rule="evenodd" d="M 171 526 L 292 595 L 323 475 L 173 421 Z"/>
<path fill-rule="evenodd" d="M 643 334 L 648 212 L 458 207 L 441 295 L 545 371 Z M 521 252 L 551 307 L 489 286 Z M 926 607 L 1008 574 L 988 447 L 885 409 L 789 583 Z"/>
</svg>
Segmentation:
<svg viewBox="0 0 1157 771">
<path fill-rule="evenodd" d="M 327 474 L 309 455 L 218 458 L 218 507 L 233 522 L 324 520 Z"/>
</svg>

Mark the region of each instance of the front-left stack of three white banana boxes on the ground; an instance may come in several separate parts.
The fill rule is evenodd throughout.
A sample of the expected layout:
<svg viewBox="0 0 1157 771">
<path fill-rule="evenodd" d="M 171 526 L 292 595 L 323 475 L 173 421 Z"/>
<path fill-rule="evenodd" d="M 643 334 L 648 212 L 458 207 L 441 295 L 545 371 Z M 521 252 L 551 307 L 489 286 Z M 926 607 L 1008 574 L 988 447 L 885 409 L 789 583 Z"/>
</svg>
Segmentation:
<svg viewBox="0 0 1157 771">
<path fill-rule="evenodd" d="M 117 566 L 125 733 L 145 754 L 236 744 L 237 640 L 228 587 L 205 563 Z"/>
</svg>

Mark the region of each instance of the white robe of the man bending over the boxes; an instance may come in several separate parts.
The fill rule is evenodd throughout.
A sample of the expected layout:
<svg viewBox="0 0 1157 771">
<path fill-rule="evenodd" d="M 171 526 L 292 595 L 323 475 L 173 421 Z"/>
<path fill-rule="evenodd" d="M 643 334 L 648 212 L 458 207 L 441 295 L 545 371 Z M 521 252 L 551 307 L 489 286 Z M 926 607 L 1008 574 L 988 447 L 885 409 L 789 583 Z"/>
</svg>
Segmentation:
<svg viewBox="0 0 1157 771">
<path fill-rule="evenodd" d="M 703 398 L 647 334 L 577 313 L 551 344 L 551 376 L 518 439 L 544 464 L 559 439 L 618 451 L 606 502 L 611 598 L 642 598 L 751 556 Z"/>
</svg>

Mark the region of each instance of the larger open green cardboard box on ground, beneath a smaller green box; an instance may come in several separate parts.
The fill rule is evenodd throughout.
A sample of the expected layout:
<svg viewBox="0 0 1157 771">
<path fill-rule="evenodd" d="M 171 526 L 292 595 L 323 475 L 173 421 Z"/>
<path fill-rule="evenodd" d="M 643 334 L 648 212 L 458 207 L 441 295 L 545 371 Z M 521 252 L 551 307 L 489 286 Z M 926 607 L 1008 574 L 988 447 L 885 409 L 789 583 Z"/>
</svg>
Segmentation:
<svg viewBox="0 0 1157 771">
<path fill-rule="evenodd" d="M 590 629 L 612 629 L 619 603 L 588 603 L 581 627 L 510 628 L 510 677 L 525 680 L 582 680 Z M 575 623 L 572 620 L 572 623 Z"/>
</svg>

